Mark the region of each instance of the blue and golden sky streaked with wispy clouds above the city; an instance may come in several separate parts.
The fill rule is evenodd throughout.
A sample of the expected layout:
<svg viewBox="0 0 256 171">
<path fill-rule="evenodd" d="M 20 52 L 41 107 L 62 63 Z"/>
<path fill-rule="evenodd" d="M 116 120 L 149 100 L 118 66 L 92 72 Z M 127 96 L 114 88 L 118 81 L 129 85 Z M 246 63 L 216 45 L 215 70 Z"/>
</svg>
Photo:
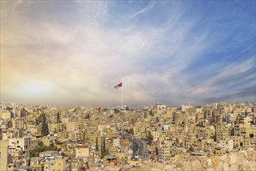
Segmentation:
<svg viewBox="0 0 256 171">
<path fill-rule="evenodd" d="M 1 1 L 1 103 L 255 102 L 254 1 Z"/>
</svg>

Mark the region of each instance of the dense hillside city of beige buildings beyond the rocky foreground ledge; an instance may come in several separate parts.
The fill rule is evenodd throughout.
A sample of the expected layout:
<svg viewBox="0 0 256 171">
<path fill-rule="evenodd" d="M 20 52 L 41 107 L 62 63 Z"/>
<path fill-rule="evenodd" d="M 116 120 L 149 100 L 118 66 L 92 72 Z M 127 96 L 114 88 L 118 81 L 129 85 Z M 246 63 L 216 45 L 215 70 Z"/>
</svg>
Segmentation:
<svg viewBox="0 0 256 171">
<path fill-rule="evenodd" d="M 0 170 L 94 170 L 256 149 L 256 103 L 143 109 L 1 103 Z"/>
</svg>

